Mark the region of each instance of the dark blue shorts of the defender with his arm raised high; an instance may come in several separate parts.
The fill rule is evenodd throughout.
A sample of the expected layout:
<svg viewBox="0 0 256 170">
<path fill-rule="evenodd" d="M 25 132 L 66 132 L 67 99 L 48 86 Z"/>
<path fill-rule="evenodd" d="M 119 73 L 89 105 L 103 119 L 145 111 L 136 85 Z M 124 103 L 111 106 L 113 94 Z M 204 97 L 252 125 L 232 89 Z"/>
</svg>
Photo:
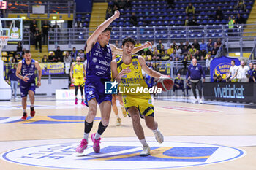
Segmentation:
<svg viewBox="0 0 256 170">
<path fill-rule="evenodd" d="M 105 82 L 86 80 L 85 86 L 86 103 L 92 98 L 96 98 L 98 104 L 103 101 L 112 101 L 112 94 L 105 94 Z"/>
</svg>

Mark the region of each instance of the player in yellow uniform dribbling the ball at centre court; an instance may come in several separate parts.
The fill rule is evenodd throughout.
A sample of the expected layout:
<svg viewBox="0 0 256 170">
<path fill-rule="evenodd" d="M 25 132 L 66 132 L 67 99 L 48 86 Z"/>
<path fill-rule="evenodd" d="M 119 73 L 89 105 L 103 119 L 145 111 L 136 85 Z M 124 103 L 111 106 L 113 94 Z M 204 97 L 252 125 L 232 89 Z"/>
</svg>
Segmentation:
<svg viewBox="0 0 256 170">
<path fill-rule="evenodd" d="M 157 139 L 162 143 L 164 136 L 158 129 L 157 122 L 154 121 L 154 106 L 152 105 L 149 93 L 132 93 L 136 88 L 147 88 L 145 80 L 143 80 L 142 70 L 151 77 L 160 78 L 162 74 L 151 70 L 146 65 L 143 57 L 132 55 L 135 47 L 135 40 L 127 37 L 122 42 L 123 55 L 116 60 L 111 61 L 112 76 L 119 83 L 119 90 L 122 90 L 124 107 L 127 109 L 129 117 L 132 117 L 133 130 L 136 136 L 143 144 L 143 151 L 140 156 L 150 155 L 150 147 L 148 146 L 143 128 L 140 124 L 140 117 L 145 119 L 146 125 L 150 128 Z M 133 89 L 133 90 L 132 90 Z"/>
</svg>

